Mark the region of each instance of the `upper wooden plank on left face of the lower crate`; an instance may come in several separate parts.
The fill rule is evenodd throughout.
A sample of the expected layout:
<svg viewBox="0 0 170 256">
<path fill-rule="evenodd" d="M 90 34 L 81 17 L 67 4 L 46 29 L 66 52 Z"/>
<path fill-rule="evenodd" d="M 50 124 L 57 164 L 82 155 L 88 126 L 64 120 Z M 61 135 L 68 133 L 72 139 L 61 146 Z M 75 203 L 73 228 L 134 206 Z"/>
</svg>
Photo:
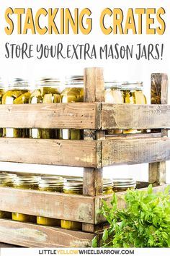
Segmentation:
<svg viewBox="0 0 170 256">
<path fill-rule="evenodd" d="M 94 223 L 94 197 L 0 187 L 0 210 Z"/>
</svg>

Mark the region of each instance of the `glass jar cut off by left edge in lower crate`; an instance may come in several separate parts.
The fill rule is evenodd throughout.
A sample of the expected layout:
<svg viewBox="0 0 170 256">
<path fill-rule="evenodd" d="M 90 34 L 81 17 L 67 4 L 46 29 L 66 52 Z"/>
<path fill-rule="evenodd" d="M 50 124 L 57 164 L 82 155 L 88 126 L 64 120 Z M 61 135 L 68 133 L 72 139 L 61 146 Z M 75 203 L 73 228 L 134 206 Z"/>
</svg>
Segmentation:
<svg viewBox="0 0 170 256">
<path fill-rule="evenodd" d="M 15 174 L 0 174 L 0 187 L 13 187 Z M 0 218 L 12 218 L 12 213 L 0 210 Z"/>
</svg>

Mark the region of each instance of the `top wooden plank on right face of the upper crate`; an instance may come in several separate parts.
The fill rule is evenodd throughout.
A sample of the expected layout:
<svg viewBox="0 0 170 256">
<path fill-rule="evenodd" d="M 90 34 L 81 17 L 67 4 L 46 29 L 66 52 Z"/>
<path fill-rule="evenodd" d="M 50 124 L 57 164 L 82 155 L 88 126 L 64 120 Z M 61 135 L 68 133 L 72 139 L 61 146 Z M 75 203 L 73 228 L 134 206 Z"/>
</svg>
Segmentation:
<svg viewBox="0 0 170 256">
<path fill-rule="evenodd" d="M 102 129 L 170 128 L 170 105 L 102 103 Z"/>
</svg>

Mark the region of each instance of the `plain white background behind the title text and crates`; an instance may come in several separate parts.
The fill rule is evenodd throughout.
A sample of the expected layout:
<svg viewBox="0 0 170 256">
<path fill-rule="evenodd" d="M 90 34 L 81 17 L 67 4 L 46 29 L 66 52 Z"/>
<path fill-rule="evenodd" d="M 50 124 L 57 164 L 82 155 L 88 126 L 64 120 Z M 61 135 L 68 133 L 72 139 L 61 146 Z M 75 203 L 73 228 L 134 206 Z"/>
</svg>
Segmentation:
<svg viewBox="0 0 170 256">
<path fill-rule="evenodd" d="M 12 7 L 24 7 L 32 8 L 33 14 L 36 10 L 44 7 L 48 8 L 74 8 L 83 9 L 85 7 L 91 9 L 91 18 L 93 20 L 92 31 L 89 35 L 32 35 L 28 33 L 27 35 L 17 35 L 16 27 L 14 28 L 14 33 L 12 35 L 6 35 L 4 32 L 4 27 L 6 27 L 6 22 L 4 19 L 4 12 L 6 8 Z M 110 9 L 122 8 L 126 14 L 128 8 L 156 8 L 164 7 L 166 14 L 164 15 L 164 20 L 166 22 L 166 32 L 164 35 L 146 35 L 146 20 L 143 18 L 143 35 L 103 35 L 99 27 L 99 17 L 102 10 L 106 7 Z M 153 15 L 154 16 L 154 15 Z M 45 18 L 42 19 L 42 24 L 45 24 Z M 137 20 L 137 19 L 136 19 Z M 169 70 L 169 31 L 170 31 L 170 13 L 169 13 L 169 0 L 162 1 L 148 1 L 148 0 L 86 0 L 86 1 L 1 1 L 0 8 L 0 77 L 5 81 L 12 80 L 14 77 L 23 77 L 32 81 L 38 77 L 52 76 L 59 77 L 66 74 L 83 74 L 84 67 L 104 67 L 105 77 L 111 77 L 113 80 L 142 80 L 144 82 L 144 91 L 150 98 L 150 78 L 152 72 L 166 72 L 170 77 Z M 111 19 L 110 19 L 111 21 Z M 23 18 L 24 23 L 24 18 Z M 137 23 L 138 24 L 138 23 Z M 17 26 L 17 20 L 14 20 L 14 25 Z M 46 24 L 45 24 L 46 25 Z M 135 58 L 133 60 L 125 59 L 91 59 L 91 60 L 71 60 L 71 59 L 41 59 L 38 60 L 36 56 L 32 59 L 6 59 L 5 58 L 5 48 L 4 44 L 17 43 L 21 44 L 23 42 L 31 43 L 36 45 L 37 43 L 43 43 L 48 45 L 55 45 L 57 43 L 66 44 L 77 44 L 77 43 L 91 43 L 96 46 L 103 46 L 104 44 L 115 44 L 120 45 L 126 44 L 137 44 L 137 43 L 164 43 L 164 56 L 162 60 L 140 60 L 137 61 Z M 3 149 L 1 149 L 3 150 Z M 143 179 L 147 181 L 148 170 L 147 164 L 138 166 L 112 166 L 109 168 L 104 168 L 104 176 L 133 176 L 135 179 Z M 6 171 L 30 171 L 30 172 L 47 172 L 56 174 L 75 174 L 82 175 L 81 168 L 66 168 L 60 166 L 35 166 L 35 165 L 25 165 L 17 163 L 0 163 L 0 169 Z M 167 168 L 167 182 L 170 182 L 169 166 Z"/>
</svg>

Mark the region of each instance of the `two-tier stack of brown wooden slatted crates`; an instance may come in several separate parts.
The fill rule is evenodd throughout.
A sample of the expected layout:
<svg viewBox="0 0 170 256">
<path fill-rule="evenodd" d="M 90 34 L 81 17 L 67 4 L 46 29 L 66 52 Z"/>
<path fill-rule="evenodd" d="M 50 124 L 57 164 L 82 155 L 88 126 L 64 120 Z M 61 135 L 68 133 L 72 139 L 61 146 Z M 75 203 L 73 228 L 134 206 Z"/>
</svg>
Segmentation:
<svg viewBox="0 0 170 256">
<path fill-rule="evenodd" d="M 97 214 L 102 200 L 102 167 L 149 163 L 149 181 L 164 189 L 165 161 L 170 159 L 170 106 L 166 74 L 152 74 L 151 103 L 104 103 L 101 68 L 84 71 L 84 103 L 0 106 L 1 127 L 84 129 L 84 140 L 0 138 L 0 161 L 84 167 L 84 195 L 0 188 L 0 210 L 82 223 L 82 231 L 0 220 L 0 242 L 23 247 L 90 247 L 104 226 Z M 106 129 L 155 129 L 148 134 L 106 136 Z M 48 150 L 47 150 L 48 149 Z M 71 149 L 71 150 L 70 150 Z M 78 174 L 79 176 L 79 174 Z M 122 195 L 119 197 L 120 207 Z"/>
</svg>

